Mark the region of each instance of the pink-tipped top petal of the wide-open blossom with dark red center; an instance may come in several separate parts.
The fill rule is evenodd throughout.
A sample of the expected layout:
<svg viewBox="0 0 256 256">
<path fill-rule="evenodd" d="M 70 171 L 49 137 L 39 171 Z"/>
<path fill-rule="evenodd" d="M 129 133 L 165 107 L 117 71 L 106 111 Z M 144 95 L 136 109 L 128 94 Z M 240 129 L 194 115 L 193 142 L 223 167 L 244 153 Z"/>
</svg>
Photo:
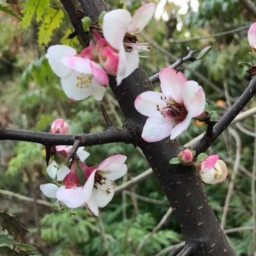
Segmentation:
<svg viewBox="0 0 256 256">
<path fill-rule="evenodd" d="M 182 92 L 185 90 L 187 79 L 182 72 L 166 67 L 159 74 L 162 92 L 176 102 L 182 101 Z"/>
</svg>

